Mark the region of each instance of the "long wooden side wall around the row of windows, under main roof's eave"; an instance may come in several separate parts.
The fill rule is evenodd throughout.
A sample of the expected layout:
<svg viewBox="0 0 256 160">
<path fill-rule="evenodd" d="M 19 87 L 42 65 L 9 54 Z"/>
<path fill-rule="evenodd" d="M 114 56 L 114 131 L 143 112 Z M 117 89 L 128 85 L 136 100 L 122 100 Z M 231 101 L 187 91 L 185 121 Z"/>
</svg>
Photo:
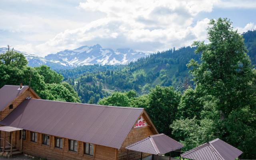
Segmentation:
<svg viewBox="0 0 256 160">
<path fill-rule="evenodd" d="M 6 132 L 8 133 L 8 132 Z M 1 133 L 2 134 L 2 133 Z M 3 137 L 3 135 L 1 136 Z M 38 133 L 38 142 L 30 142 L 30 131 L 26 131 L 26 140 L 23 140 L 22 152 L 35 157 L 46 158 L 47 160 L 115 160 L 116 149 L 106 146 L 94 145 L 94 156 L 84 155 L 84 143 L 79 142 L 78 153 L 68 151 L 68 139 L 63 138 L 63 149 L 55 147 L 54 136 L 50 136 L 50 145 L 42 144 L 42 134 Z M 6 144 L 7 145 L 7 144 Z M 16 148 L 21 149 L 19 131 L 16 131 Z M 2 140 L 1 140 L 1 146 Z"/>
</svg>

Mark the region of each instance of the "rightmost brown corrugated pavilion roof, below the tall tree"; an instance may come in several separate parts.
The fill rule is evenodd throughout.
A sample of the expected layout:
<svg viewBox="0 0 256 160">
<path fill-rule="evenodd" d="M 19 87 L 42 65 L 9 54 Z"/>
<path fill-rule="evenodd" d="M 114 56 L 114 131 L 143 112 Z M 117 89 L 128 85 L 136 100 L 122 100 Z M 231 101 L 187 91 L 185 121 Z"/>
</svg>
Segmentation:
<svg viewBox="0 0 256 160">
<path fill-rule="evenodd" d="M 180 156 L 191 160 L 235 160 L 242 153 L 242 151 L 217 138 Z"/>
</svg>

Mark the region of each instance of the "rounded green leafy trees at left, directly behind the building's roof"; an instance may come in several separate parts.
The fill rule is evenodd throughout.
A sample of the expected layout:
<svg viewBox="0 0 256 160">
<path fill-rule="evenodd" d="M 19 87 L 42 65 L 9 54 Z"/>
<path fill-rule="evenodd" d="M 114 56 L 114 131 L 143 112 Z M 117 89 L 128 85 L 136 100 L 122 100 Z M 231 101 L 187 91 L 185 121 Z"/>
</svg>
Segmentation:
<svg viewBox="0 0 256 160">
<path fill-rule="evenodd" d="M 65 102 L 80 102 L 77 93 L 68 83 L 61 83 L 63 76 L 52 71 L 50 67 L 26 66 L 28 61 L 23 54 L 15 51 L 7 51 L 0 54 L 0 87 L 4 85 L 30 84 L 31 88 L 42 99 L 60 100 Z"/>
</svg>

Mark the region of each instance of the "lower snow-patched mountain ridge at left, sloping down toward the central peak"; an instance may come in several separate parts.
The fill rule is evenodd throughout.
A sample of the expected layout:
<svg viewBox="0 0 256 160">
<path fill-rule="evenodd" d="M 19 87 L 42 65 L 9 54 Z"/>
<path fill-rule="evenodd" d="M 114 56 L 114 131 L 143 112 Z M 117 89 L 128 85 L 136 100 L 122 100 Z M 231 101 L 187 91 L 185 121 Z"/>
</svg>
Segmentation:
<svg viewBox="0 0 256 160">
<path fill-rule="evenodd" d="M 0 48 L 0 54 L 5 53 L 7 50 L 8 48 Z M 50 66 L 52 70 L 55 70 L 55 69 L 60 70 L 60 69 L 74 68 L 77 66 L 76 64 L 72 64 L 64 60 L 51 60 L 51 59 L 46 59 L 46 58 L 37 56 L 35 54 L 30 54 L 27 52 L 20 52 L 18 50 L 14 50 L 14 51 L 24 54 L 24 56 L 28 60 L 28 66 L 31 66 L 31 67 L 36 67 L 36 66 L 45 64 L 47 66 Z"/>
</svg>

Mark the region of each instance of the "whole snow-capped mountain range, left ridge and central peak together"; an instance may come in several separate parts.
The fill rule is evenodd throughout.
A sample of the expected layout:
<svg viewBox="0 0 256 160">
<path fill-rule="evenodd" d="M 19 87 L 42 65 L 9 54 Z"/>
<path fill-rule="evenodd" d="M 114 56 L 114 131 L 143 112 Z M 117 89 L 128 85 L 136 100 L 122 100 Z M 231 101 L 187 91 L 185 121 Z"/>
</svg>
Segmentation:
<svg viewBox="0 0 256 160">
<path fill-rule="evenodd" d="M 0 48 L 0 54 L 5 53 L 8 48 Z M 104 49 L 99 44 L 92 47 L 82 46 L 74 50 L 64 50 L 56 54 L 49 54 L 40 57 L 27 52 L 16 52 L 24 54 L 28 60 L 28 66 L 35 67 L 45 64 L 50 66 L 52 70 L 70 69 L 82 65 L 90 64 L 127 64 L 131 61 L 136 61 L 140 57 L 146 57 L 152 53 L 136 52 L 130 48 Z"/>
</svg>

